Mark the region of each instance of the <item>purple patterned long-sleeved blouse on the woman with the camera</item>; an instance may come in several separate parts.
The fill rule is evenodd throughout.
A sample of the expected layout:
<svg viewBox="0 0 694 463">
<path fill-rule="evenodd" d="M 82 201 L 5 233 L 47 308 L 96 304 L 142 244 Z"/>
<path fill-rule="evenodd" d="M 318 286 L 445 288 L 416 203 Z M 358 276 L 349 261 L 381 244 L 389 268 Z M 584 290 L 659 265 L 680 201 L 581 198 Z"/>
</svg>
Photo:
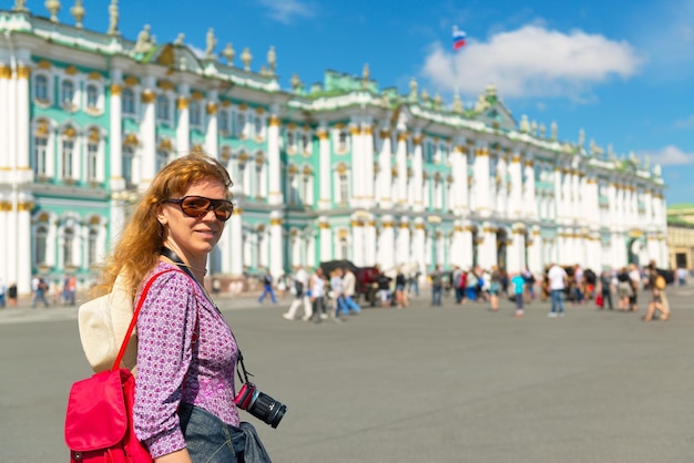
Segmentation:
<svg viewBox="0 0 694 463">
<path fill-rule="evenodd" d="M 160 263 L 147 278 L 170 268 L 178 269 Z M 192 347 L 196 316 L 200 337 Z M 238 426 L 234 404 L 237 357 L 226 321 L 186 274 L 170 271 L 156 278 L 137 319 L 133 407 L 135 434 L 153 459 L 185 447 L 176 414 L 181 401 Z"/>
</svg>

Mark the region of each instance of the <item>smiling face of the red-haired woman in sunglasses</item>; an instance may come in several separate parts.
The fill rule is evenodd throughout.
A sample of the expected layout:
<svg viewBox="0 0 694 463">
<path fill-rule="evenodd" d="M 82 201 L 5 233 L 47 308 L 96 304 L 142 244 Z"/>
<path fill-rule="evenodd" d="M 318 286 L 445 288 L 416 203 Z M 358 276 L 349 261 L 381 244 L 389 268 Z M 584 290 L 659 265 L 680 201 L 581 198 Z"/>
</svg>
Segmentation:
<svg viewBox="0 0 694 463">
<path fill-rule="evenodd" d="M 210 199 L 226 199 L 226 187 L 223 183 L 207 178 L 192 184 L 181 197 L 202 196 Z M 207 210 L 200 217 L 190 217 L 183 213 L 178 204 L 163 203 L 157 210 L 159 222 L 164 226 L 164 245 L 177 254 L 191 258 L 203 258 L 215 247 L 224 222 L 216 218 L 214 210 Z"/>
</svg>

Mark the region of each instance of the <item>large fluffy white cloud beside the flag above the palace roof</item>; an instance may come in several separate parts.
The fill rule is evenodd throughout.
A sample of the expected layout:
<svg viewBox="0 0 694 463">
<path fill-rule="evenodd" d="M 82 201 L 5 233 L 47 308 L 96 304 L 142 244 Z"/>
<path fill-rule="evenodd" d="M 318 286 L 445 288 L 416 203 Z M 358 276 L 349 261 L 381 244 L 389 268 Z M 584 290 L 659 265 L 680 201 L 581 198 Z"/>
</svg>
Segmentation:
<svg viewBox="0 0 694 463">
<path fill-rule="evenodd" d="M 435 43 L 421 74 L 441 91 L 477 94 L 493 83 L 508 97 L 581 100 L 592 85 L 634 75 L 642 61 L 625 41 L 533 24 L 496 33 L 487 42 L 470 40 L 458 54 Z"/>
</svg>

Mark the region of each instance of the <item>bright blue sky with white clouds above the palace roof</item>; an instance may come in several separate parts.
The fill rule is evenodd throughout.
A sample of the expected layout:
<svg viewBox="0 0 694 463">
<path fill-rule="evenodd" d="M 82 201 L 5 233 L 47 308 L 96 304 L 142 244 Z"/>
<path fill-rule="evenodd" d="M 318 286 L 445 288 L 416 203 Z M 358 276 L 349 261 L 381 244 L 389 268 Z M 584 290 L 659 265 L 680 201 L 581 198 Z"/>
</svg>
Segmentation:
<svg viewBox="0 0 694 463">
<path fill-rule="evenodd" d="M 4 0 L 2 8 L 11 8 Z M 34 14 L 43 1 L 29 0 Z M 63 1 L 62 21 L 72 22 Z M 108 0 L 85 1 L 85 28 L 105 31 Z M 95 4 L 100 4 L 96 10 Z M 523 4 L 524 3 L 524 4 Z M 248 47 L 252 68 L 277 52 L 280 85 L 294 73 L 310 84 L 325 70 L 360 74 L 364 63 L 381 89 L 408 92 L 410 78 L 472 104 L 488 83 L 520 121 L 550 126 L 561 140 L 585 130 L 618 155 L 634 152 L 663 165 L 669 204 L 694 203 L 694 0 L 120 0 L 120 30 L 135 39 L 152 25 L 159 42 L 217 51 Z M 453 25 L 468 44 L 452 53 Z M 238 63 L 238 58 L 236 58 Z"/>
</svg>

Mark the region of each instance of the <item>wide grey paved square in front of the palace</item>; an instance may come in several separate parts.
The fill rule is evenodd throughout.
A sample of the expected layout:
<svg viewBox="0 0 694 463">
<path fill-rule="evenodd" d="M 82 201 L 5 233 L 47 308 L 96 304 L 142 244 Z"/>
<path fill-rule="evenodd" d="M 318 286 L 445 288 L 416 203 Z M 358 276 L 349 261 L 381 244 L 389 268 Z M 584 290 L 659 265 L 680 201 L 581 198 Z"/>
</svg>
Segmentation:
<svg viewBox="0 0 694 463">
<path fill-rule="evenodd" d="M 672 319 L 651 323 L 645 295 L 640 313 L 569 305 L 561 319 L 547 302 L 517 319 L 508 301 L 423 297 L 319 325 L 253 298 L 218 305 L 253 381 L 288 407 L 276 430 L 241 412 L 277 463 L 682 463 L 694 288 L 669 295 Z M 68 391 L 90 374 L 76 325 L 14 310 L 30 313 L 0 323 L 0 461 L 67 461 Z"/>
</svg>

